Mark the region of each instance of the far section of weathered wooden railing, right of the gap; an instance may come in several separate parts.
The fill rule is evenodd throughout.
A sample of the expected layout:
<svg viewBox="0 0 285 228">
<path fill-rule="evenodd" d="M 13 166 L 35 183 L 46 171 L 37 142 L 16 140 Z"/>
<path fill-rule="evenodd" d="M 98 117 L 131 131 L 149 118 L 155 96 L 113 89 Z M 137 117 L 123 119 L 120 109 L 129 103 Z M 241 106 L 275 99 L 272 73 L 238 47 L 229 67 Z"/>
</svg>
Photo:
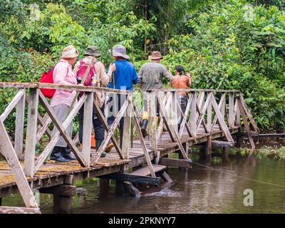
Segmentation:
<svg viewBox="0 0 285 228">
<path fill-rule="evenodd" d="M 182 96 L 186 100 L 186 103 L 183 101 L 184 108 L 182 108 Z M 182 156 L 187 159 L 181 143 L 182 138 L 197 140 L 199 134 L 207 134 L 211 139 L 212 134 L 222 131 L 227 141 L 234 142 L 230 129 L 241 129 L 242 123 L 249 135 L 252 149 L 255 147 L 251 134 L 252 130 L 259 133 L 259 129 L 239 90 L 160 89 L 143 93 L 143 98 L 145 102 L 140 116 L 143 110 L 147 110 L 148 135 L 151 148 L 155 152 L 165 128 L 172 142 L 177 142 Z M 160 118 L 157 123 L 158 113 Z M 138 118 L 138 121 L 141 122 L 141 118 Z"/>
</svg>

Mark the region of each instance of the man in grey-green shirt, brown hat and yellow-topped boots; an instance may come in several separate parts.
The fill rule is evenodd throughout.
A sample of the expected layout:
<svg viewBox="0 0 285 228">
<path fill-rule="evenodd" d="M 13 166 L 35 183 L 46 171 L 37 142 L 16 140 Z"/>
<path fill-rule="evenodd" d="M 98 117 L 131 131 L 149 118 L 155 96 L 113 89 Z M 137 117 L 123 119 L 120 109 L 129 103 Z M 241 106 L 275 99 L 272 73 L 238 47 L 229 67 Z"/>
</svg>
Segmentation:
<svg viewBox="0 0 285 228">
<path fill-rule="evenodd" d="M 151 56 L 149 56 L 150 62 L 145 63 L 140 68 L 138 73 L 138 86 L 144 93 L 144 113 L 142 115 L 142 135 L 146 136 L 146 128 L 148 123 L 148 113 L 147 113 L 147 99 L 145 99 L 145 92 L 147 90 L 154 90 L 162 88 L 162 78 L 166 78 L 167 81 L 172 81 L 172 74 L 167 71 L 167 68 L 160 64 L 160 59 L 162 56 L 159 51 L 152 51 Z M 158 110 L 157 110 L 158 112 Z"/>
</svg>

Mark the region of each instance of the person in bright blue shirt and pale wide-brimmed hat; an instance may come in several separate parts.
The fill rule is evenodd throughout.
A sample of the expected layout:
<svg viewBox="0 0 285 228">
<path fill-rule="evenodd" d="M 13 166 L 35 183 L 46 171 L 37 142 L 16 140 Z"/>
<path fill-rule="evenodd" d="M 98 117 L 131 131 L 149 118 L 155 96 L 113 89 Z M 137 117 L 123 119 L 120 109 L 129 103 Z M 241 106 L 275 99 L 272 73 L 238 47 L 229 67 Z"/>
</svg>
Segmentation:
<svg viewBox="0 0 285 228">
<path fill-rule="evenodd" d="M 138 74 L 135 71 L 135 67 L 132 63 L 128 61 L 129 56 L 125 53 L 125 46 L 116 45 L 113 48 L 113 57 L 115 58 L 115 71 L 113 73 L 112 81 L 108 84 L 109 88 L 115 88 L 117 90 L 128 90 L 133 91 L 133 84 L 138 83 Z M 116 95 L 110 97 L 109 100 L 109 117 L 108 125 L 112 125 L 115 117 L 117 116 L 121 105 L 125 103 L 125 95 L 114 94 Z M 115 109 L 114 106 L 115 105 Z M 124 118 L 120 120 L 120 147 L 122 147 L 123 142 L 123 123 Z"/>
</svg>

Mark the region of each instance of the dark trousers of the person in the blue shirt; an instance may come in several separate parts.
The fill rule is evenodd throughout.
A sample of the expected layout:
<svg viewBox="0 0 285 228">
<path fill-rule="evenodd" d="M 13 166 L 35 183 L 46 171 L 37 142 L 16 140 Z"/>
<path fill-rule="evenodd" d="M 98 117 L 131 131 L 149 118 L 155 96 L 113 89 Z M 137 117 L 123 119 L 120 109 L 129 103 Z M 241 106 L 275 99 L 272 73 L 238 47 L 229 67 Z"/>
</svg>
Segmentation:
<svg viewBox="0 0 285 228">
<path fill-rule="evenodd" d="M 115 100 L 114 100 L 114 96 Z M 120 108 L 122 105 L 125 103 L 126 96 L 125 95 L 116 95 L 113 94 L 113 96 L 110 96 L 109 98 L 109 103 L 108 103 L 108 125 L 112 125 L 115 121 L 115 118 L 118 115 L 118 112 L 120 111 Z M 116 105 L 114 107 L 114 105 Z M 123 128 L 124 128 L 124 115 L 123 118 L 120 119 L 119 123 L 119 128 L 120 128 L 120 147 L 122 147 L 122 142 L 123 142 Z"/>
</svg>

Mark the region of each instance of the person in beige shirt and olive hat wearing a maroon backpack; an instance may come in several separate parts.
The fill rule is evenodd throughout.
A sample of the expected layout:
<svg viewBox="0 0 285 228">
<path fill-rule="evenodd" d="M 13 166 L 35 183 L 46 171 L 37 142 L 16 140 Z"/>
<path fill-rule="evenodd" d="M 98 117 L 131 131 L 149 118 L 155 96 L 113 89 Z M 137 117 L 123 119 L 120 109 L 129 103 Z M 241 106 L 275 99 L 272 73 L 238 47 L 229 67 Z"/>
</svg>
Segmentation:
<svg viewBox="0 0 285 228">
<path fill-rule="evenodd" d="M 86 77 L 86 81 L 84 82 L 84 86 L 108 86 L 110 82 L 111 76 L 113 71 L 115 71 L 115 66 L 111 65 L 109 68 L 108 73 L 105 73 L 105 66 L 103 63 L 98 61 L 98 57 L 101 54 L 99 53 L 99 49 L 96 46 L 88 46 L 85 58 L 82 58 L 80 61 L 76 63 L 76 66 L 73 69 L 73 72 L 77 76 L 78 83 L 81 83 L 89 64 L 93 59 L 92 66 Z M 81 94 L 82 95 L 82 94 Z M 95 103 L 100 107 L 102 113 L 104 113 L 104 100 L 105 100 L 105 93 L 102 91 L 99 93 L 94 93 L 95 96 Z M 79 142 L 83 141 L 83 116 L 84 116 L 84 105 L 81 107 L 78 113 L 78 120 L 79 120 Z M 98 119 L 98 114 L 93 112 L 93 128 L 95 133 L 95 143 L 96 143 L 96 150 L 100 147 L 104 140 L 104 133 L 105 128 L 103 124 Z M 108 145 L 105 149 L 106 152 L 109 152 L 113 145 Z M 103 152 L 101 157 L 105 157 L 106 153 Z"/>
</svg>

